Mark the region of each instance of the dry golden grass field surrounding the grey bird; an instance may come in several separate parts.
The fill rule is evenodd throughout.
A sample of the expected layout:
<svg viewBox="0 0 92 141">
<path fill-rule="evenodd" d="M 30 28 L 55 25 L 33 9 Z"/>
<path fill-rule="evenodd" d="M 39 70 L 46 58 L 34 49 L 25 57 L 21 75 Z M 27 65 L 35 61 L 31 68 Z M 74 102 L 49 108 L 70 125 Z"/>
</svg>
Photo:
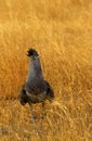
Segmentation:
<svg viewBox="0 0 92 141">
<path fill-rule="evenodd" d="M 17 100 L 29 48 L 55 93 L 37 132 Z M 0 141 L 92 141 L 91 0 L 0 0 Z"/>
</svg>

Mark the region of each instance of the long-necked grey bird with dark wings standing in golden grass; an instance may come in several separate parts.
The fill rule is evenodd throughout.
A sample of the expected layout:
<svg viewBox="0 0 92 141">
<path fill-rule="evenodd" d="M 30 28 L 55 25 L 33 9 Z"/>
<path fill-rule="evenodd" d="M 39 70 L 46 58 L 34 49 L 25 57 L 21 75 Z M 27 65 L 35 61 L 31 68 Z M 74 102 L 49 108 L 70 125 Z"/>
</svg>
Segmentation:
<svg viewBox="0 0 92 141">
<path fill-rule="evenodd" d="M 54 100 L 54 91 L 48 80 L 44 79 L 40 55 L 35 49 L 29 49 L 27 51 L 27 56 L 29 57 L 29 68 L 27 79 L 23 85 L 19 92 L 19 102 L 22 105 L 29 104 L 32 121 L 35 124 L 36 116 L 32 111 L 32 104 L 41 103 L 40 117 L 44 118 L 44 103 L 47 100 L 52 102 Z"/>
</svg>

